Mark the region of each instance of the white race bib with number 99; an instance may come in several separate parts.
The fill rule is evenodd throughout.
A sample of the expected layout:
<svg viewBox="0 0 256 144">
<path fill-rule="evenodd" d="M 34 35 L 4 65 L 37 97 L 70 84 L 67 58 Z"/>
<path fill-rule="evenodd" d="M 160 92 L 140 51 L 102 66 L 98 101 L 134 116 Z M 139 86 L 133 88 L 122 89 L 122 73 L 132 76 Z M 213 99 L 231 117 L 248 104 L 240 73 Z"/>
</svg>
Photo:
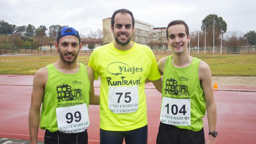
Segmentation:
<svg viewBox="0 0 256 144">
<path fill-rule="evenodd" d="M 58 129 L 64 133 L 83 132 L 90 125 L 87 104 L 56 109 Z"/>
</svg>

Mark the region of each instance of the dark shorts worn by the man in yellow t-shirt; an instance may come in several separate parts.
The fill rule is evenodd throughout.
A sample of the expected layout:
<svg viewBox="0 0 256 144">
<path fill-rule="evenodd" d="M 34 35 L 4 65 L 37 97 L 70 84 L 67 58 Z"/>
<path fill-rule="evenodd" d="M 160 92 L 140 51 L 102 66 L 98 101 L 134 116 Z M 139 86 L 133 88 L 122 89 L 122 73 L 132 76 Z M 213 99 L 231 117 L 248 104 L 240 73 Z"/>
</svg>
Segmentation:
<svg viewBox="0 0 256 144">
<path fill-rule="evenodd" d="M 129 131 L 109 131 L 100 129 L 100 144 L 147 144 L 147 125 Z"/>
</svg>

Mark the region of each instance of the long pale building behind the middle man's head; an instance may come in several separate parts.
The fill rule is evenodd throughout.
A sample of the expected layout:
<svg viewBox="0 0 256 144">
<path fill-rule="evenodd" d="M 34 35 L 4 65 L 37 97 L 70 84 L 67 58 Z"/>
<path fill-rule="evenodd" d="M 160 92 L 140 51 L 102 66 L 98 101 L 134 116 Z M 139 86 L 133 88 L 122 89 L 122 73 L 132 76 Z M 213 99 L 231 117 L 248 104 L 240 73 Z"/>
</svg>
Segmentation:
<svg viewBox="0 0 256 144">
<path fill-rule="evenodd" d="M 135 32 L 133 34 L 132 40 L 142 45 L 150 45 L 151 42 L 151 30 L 154 26 L 134 19 L 135 20 Z M 111 32 L 111 17 L 102 20 L 102 35 L 103 43 L 107 44 L 114 40 L 113 33 Z"/>
</svg>

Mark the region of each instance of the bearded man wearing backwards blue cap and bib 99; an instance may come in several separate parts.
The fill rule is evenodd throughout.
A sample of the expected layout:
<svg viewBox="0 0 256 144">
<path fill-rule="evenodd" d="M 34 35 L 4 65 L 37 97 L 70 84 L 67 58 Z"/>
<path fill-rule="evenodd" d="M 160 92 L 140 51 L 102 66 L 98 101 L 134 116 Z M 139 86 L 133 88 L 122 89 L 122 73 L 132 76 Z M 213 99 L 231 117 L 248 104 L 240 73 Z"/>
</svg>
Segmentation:
<svg viewBox="0 0 256 144">
<path fill-rule="evenodd" d="M 74 28 L 62 28 L 55 47 L 59 61 L 40 68 L 34 76 L 30 142 L 37 144 L 40 123 L 45 130 L 45 144 L 88 144 L 88 105 L 99 103 L 94 95 L 93 70 L 76 61 L 82 43 Z"/>
</svg>

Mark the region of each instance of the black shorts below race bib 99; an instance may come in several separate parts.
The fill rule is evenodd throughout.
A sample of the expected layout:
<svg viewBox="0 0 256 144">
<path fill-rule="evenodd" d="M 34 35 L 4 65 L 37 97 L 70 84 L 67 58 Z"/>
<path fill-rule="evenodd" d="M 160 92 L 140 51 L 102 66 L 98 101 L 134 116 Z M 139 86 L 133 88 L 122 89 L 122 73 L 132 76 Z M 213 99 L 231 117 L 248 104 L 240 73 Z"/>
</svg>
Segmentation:
<svg viewBox="0 0 256 144">
<path fill-rule="evenodd" d="M 88 133 L 87 130 L 70 134 L 45 130 L 45 144 L 88 144 Z"/>
</svg>

